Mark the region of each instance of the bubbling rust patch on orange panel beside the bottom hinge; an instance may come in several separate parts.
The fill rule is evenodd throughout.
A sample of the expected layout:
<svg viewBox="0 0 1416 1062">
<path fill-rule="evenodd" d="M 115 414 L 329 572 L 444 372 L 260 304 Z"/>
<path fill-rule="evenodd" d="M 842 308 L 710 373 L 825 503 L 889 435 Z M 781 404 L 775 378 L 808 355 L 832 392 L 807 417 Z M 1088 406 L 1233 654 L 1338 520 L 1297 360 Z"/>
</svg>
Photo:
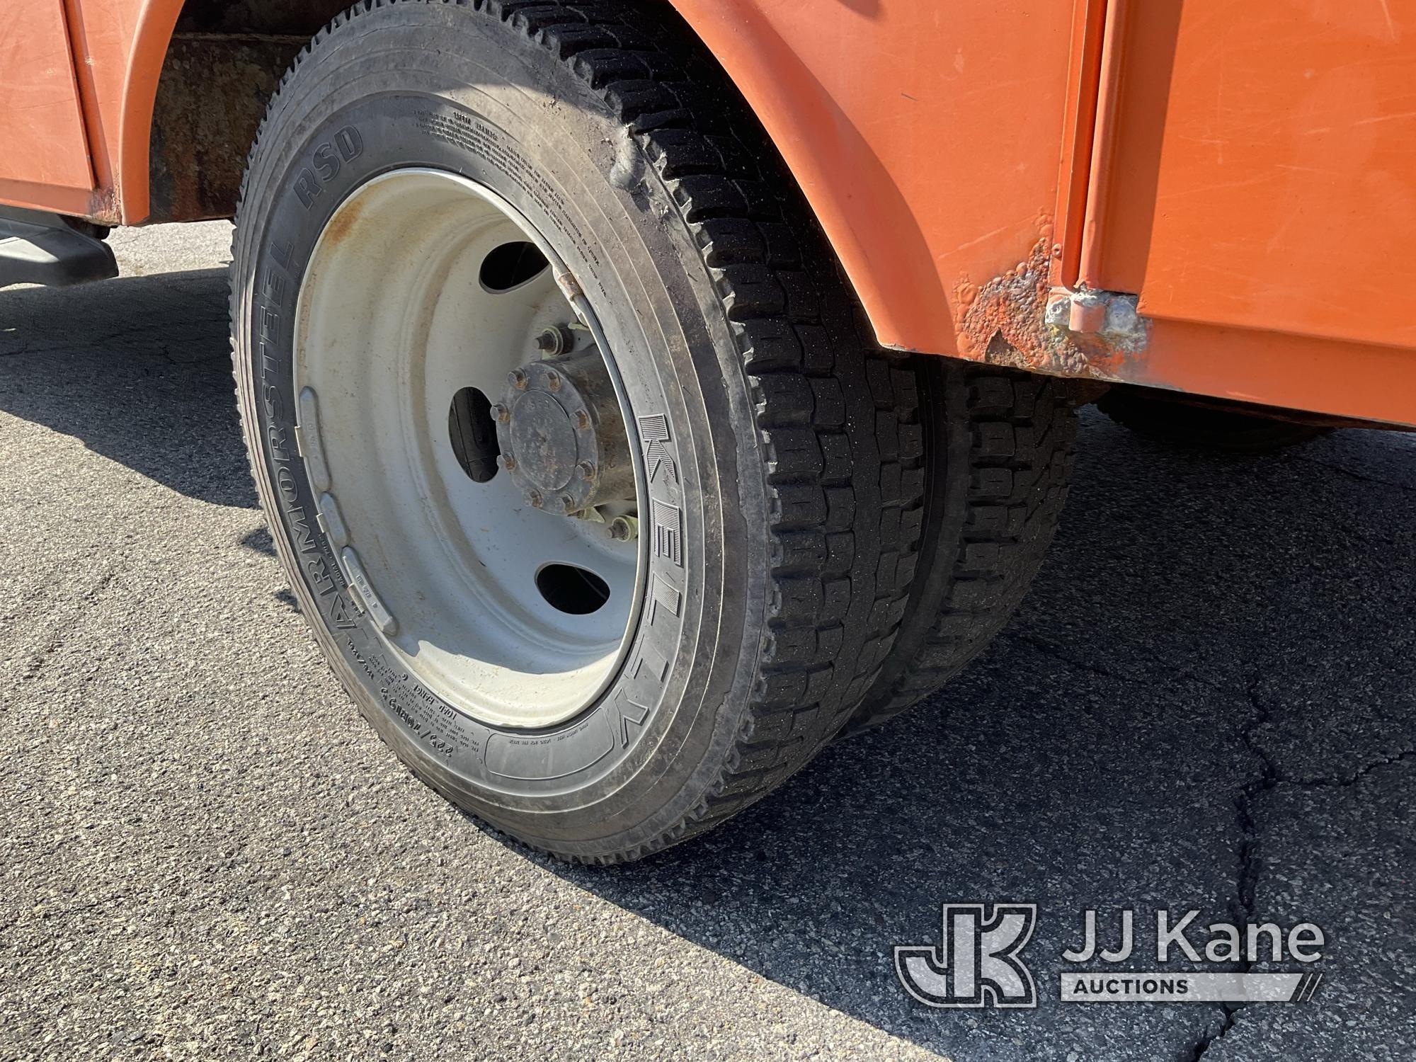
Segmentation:
<svg viewBox="0 0 1416 1062">
<path fill-rule="evenodd" d="M 1029 372 L 1117 379 L 1134 355 L 1102 336 L 1079 334 L 1046 323 L 1048 261 L 1052 232 L 1044 227 L 1028 258 L 983 285 L 961 278 L 954 286 L 960 309 L 959 354 Z"/>
</svg>

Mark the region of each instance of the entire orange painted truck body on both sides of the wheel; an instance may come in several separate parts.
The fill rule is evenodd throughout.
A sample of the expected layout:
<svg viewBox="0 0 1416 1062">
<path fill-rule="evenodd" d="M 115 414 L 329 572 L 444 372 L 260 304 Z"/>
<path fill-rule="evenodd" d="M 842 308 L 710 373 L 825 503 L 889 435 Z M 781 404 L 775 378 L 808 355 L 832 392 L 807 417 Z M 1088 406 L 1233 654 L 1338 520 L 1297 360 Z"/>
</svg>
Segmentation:
<svg viewBox="0 0 1416 1062">
<path fill-rule="evenodd" d="M 881 343 L 1416 425 L 1416 0 L 671 1 Z M 21 7 L 0 201 L 142 222 L 181 0 Z M 1055 357 L 1058 285 L 1148 343 Z"/>
</svg>

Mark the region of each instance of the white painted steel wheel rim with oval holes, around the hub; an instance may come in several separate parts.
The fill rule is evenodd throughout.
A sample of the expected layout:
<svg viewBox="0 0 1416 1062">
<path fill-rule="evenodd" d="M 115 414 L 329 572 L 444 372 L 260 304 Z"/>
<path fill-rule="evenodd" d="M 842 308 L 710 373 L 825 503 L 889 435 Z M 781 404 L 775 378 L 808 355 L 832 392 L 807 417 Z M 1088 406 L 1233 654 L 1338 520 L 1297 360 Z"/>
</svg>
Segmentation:
<svg viewBox="0 0 1416 1062">
<path fill-rule="evenodd" d="M 344 575 L 418 680 L 500 726 L 551 726 L 595 704 L 643 599 L 640 541 L 532 507 L 506 467 L 477 481 L 453 447 L 455 396 L 477 388 L 497 404 L 551 326 L 575 324 L 576 350 L 599 348 L 634 423 L 593 313 L 581 296 L 578 317 L 556 283 L 564 272 L 494 193 L 409 169 L 336 211 L 300 287 L 300 445 Z M 634 480 L 643 496 L 641 469 Z M 636 513 L 634 498 L 599 510 Z"/>
</svg>

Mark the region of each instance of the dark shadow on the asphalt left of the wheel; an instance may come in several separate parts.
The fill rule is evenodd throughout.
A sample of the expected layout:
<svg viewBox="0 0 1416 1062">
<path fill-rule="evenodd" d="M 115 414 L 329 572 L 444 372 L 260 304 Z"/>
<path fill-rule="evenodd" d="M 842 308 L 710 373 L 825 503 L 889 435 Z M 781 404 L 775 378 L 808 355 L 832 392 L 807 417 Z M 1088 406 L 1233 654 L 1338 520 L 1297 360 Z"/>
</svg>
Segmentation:
<svg viewBox="0 0 1416 1062">
<path fill-rule="evenodd" d="M 224 269 L 0 290 L 0 412 L 188 497 L 256 507 Z"/>
</svg>

